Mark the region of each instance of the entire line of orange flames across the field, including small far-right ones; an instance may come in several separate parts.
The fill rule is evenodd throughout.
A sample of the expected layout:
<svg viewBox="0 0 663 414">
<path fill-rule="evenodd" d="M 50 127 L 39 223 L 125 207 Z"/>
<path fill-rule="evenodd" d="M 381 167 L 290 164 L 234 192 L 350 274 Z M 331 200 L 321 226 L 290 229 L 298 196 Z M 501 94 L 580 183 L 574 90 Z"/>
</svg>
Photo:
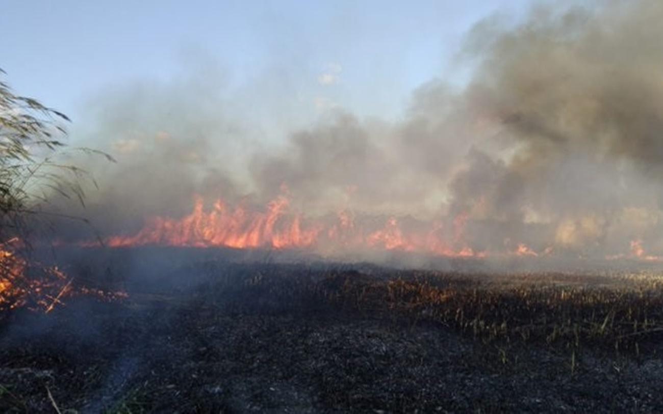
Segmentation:
<svg viewBox="0 0 663 414">
<path fill-rule="evenodd" d="M 158 245 L 298 249 L 340 254 L 387 250 L 458 258 L 546 258 L 557 254 L 553 244 L 537 249 L 511 238 L 504 240 L 501 250 L 477 249 L 466 240 L 469 237 L 465 234 L 465 227 L 469 221 L 467 213 L 427 222 L 394 216 L 357 218 L 349 210 L 324 217 L 307 217 L 292 211 L 285 195 L 276 197 L 263 209 L 247 207 L 246 203 L 231 207 L 222 199 L 217 199 L 210 209 L 206 209 L 202 197 L 196 197 L 190 214 L 180 219 L 152 217 L 137 233 L 111 236 L 105 244 L 111 247 Z M 605 258 L 663 260 L 647 254 L 641 240 L 626 244 L 630 246 L 628 254 Z"/>
</svg>

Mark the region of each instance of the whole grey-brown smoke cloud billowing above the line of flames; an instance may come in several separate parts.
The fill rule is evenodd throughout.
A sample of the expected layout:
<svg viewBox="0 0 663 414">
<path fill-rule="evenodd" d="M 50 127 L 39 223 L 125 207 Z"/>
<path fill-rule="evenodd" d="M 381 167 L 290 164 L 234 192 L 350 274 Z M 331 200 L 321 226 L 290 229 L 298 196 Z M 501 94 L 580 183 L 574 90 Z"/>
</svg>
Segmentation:
<svg viewBox="0 0 663 414">
<path fill-rule="evenodd" d="M 93 102 L 91 146 L 119 162 L 94 168 L 84 215 L 131 234 L 196 195 L 283 196 L 307 217 L 439 223 L 456 250 L 661 254 L 662 19 L 649 0 L 486 19 L 459 54 L 476 65 L 463 89 L 432 79 L 402 119 L 333 110 L 282 145 L 249 134 L 209 72 L 120 88 Z"/>
</svg>

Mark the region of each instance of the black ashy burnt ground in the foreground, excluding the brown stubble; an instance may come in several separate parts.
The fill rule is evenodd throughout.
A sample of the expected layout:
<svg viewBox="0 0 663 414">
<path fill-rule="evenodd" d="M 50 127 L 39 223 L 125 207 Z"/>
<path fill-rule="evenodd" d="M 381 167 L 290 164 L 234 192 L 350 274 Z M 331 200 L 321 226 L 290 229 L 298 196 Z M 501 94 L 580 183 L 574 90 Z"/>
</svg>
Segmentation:
<svg viewBox="0 0 663 414">
<path fill-rule="evenodd" d="M 663 411 L 657 329 L 636 348 L 577 330 L 573 346 L 522 331 L 493 338 L 436 314 L 450 299 L 410 295 L 481 298 L 485 276 L 424 274 L 432 287 L 415 272 L 357 267 L 203 262 L 123 280 L 122 303 L 5 315 L 0 411 Z M 400 290 L 387 288 L 394 280 Z"/>
</svg>

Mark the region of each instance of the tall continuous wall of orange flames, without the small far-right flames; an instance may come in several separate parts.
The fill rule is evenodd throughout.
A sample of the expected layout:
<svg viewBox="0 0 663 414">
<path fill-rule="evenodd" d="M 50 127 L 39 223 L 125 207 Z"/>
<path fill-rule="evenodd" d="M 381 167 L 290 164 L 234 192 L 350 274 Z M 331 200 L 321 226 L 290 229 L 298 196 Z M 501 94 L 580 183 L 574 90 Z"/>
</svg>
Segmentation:
<svg viewBox="0 0 663 414">
<path fill-rule="evenodd" d="M 263 211 L 244 205 L 231 208 L 218 199 L 206 211 L 197 197 L 189 215 L 181 219 L 152 217 L 145 227 L 131 236 L 111 236 L 105 240 L 111 247 L 166 245 L 229 248 L 337 248 L 355 250 L 399 250 L 444 256 L 479 256 L 461 244 L 467 217 L 453 222 L 452 240 L 446 240 L 442 223 L 426 231 L 407 230 L 399 219 L 389 217 L 382 225 L 357 223 L 353 213 L 341 211 L 336 217 L 310 219 L 290 211 L 288 199 L 281 195 Z M 457 246 L 454 248 L 454 246 Z"/>
</svg>

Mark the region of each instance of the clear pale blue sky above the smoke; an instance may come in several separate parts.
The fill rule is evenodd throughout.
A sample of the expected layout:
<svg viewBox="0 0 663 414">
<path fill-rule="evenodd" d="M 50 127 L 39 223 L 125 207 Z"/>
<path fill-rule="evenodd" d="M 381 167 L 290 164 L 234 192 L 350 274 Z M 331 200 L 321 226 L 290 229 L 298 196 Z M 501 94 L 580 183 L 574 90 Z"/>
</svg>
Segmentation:
<svg viewBox="0 0 663 414">
<path fill-rule="evenodd" d="M 296 124 L 332 106 L 398 116 L 418 85 L 461 81 L 453 54 L 473 23 L 495 12 L 517 16 L 532 2 L 0 3 L 7 80 L 75 121 L 99 91 L 211 66 L 222 81 L 210 87 L 222 85 L 262 117 L 292 113 Z"/>
</svg>

